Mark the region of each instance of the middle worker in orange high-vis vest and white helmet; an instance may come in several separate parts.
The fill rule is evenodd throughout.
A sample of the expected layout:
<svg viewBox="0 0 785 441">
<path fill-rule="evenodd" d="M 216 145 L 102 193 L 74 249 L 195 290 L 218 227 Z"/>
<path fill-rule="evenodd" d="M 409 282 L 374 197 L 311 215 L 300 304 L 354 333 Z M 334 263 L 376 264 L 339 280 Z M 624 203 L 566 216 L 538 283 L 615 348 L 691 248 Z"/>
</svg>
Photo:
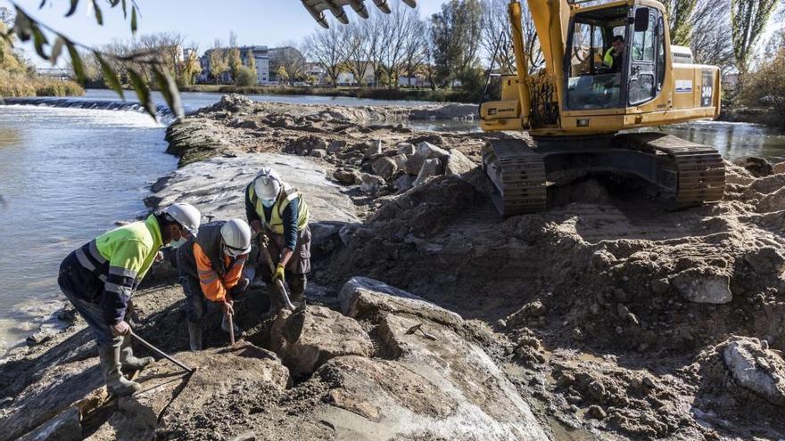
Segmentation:
<svg viewBox="0 0 785 441">
<path fill-rule="evenodd" d="M 229 331 L 227 314 L 248 289 L 243 269 L 251 251 L 251 228 L 242 219 L 211 222 L 198 236 L 178 248 L 180 284 L 186 294 L 188 338 L 192 351 L 202 350 L 205 315 L 211 305 L 222 306 L 221 328 Z M 235 324 L 235 333 L 240 329 Z"/>
</svg>

